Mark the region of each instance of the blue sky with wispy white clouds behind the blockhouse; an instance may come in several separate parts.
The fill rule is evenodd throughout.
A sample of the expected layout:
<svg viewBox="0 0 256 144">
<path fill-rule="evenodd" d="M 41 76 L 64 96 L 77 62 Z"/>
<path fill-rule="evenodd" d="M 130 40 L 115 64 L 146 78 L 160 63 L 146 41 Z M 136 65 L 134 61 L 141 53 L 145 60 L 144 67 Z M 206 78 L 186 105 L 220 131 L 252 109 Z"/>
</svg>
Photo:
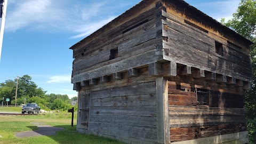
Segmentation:
<svg viewBox="0 0 256 144">
<path fill-rule="evenodd" d="M 185 0 L 210 17 L 230 19 L 240 0 Z M 47 93 L 77 96 L 69 47 L 140 0 L 8 0 L 0 83 L 30 75 Z M 1 95 L 0 95 L 1 97 Z"/>
</svg>

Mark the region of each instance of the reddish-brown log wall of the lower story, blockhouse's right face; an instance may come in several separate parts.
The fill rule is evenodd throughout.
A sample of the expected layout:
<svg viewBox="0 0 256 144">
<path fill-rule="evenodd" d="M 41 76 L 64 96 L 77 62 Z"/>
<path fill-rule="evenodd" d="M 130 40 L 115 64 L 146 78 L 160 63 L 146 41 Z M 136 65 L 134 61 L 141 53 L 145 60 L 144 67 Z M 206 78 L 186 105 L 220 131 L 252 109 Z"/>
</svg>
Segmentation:
<svg viewBox="0 0 256 144">
<path fill-rule="evenodd" d="M 233 90 L 239 87 L 223 90 L 221 84 L 210 87 L 202 79 L 183 79 L 188 80 L 169 78 L 168 82 L 171 142 L 246 131 L 243 92 Z M 211 91 L 208 106 L 197 105 L 196 87 Z"/>
</svg>

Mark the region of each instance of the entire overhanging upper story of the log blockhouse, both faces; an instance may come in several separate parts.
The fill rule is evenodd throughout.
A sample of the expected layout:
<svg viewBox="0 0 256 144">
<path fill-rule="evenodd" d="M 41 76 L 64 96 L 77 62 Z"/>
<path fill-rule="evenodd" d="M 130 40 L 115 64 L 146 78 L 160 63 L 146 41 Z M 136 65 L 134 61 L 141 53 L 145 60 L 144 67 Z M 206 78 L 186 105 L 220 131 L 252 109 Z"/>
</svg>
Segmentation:
<svg viewBox="0 0 256 144">
<path fill-rule="evenodd" d="M 251 41 L 184 1 L 147 0 L 73 50 L 74 89 L 148 67 L 149 76 L 190 75 L 250 87 Z"/>
</svg>

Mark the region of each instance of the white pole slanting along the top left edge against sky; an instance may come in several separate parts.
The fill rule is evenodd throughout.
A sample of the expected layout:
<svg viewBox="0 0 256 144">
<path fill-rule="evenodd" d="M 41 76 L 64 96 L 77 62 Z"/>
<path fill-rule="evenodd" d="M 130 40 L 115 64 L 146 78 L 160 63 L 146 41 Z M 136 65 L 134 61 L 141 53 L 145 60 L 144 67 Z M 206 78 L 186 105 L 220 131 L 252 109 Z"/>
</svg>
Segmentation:
<svg viewBox="0 0 256 144">
<path fill-rule="evenodd" d="M 6 9 L 7 9 L 7 0 L 0 0 L 1 2 L 1 12 L 0 16 L 2 18 L 1 20 L 1 28 L 0 28 L 0 60 L 1 60 L 1 52 L 2 52 L 2 45 L 3 45 L 3 37 L 4 37 L 4 24 L 5 24 L 5 15 L 6 15 Z"/>
</svg>

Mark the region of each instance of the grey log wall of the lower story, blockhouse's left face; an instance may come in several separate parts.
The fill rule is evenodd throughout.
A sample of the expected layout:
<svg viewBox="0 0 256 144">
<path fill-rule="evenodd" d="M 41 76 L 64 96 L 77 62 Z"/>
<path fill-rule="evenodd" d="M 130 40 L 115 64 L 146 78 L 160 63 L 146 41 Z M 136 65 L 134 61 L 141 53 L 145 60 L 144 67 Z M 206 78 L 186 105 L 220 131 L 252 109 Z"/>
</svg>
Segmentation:
<svg viewBox="0 0 256 144">
<path fill-rule="evenodd" d="M 78 131 L 110 137 L 124 142 L 155 143 L 157 141 L 157 108 L 155 77 L 148 77 L 147 68 L 139 69 L 138 77 L 98 79 L 97 85 L 82 87 L 79 109 L 86 107 L 83 94 L 90 92 L 88 127 Z M 81 94 L 81 95 L 80 95 Z M 83 111 L 78 111 L 77 125 L 81 125 Z M 85 117 L 84 119 L 86 119 Z M 83 118 L 82 118 L 83 119 Z"/>
</svg>

